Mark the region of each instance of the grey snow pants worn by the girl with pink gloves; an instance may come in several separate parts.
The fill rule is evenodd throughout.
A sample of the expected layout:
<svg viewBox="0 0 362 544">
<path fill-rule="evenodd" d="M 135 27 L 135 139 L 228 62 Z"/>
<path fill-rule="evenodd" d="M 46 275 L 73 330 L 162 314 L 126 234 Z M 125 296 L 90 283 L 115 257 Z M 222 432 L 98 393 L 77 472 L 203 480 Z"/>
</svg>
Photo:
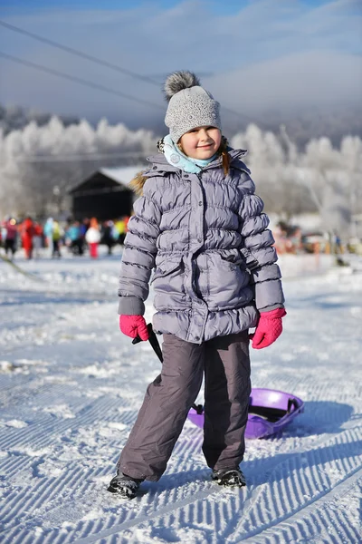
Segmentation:
<svg viewBox="0 0 362 544">
<path fill-rule="evenodd" d="M 248 331 L 201 345 L 164 335 L 162 372 L 148 385 L 138 419 L 121 452 L 118 471 L 157 481 L 200 391 L 205 372 L 203 452 L 215 470 L 243 460 L 251 393 Z"/>
</svg>

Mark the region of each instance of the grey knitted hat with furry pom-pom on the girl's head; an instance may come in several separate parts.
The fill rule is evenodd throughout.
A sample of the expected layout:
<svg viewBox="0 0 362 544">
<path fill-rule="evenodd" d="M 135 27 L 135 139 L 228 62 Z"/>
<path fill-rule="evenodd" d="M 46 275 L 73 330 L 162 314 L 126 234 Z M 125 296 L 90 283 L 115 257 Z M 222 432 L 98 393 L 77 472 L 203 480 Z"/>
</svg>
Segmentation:
<svg viewBox="0 0 362 544">
<path fill-rule="evenodd" d="M 175 143 L 185 132 L 206 125 L 221 130 L 220 104 L 200 86 L 195 73 L 171 73 L 165 82 L 168 108 L 165 124 Z"/>
</svg>

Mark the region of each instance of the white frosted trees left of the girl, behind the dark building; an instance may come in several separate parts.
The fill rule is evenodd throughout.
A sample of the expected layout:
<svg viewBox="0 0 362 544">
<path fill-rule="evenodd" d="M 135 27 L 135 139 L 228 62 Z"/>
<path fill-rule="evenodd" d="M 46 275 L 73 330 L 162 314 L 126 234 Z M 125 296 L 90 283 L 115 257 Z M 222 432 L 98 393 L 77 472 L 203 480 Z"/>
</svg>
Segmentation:
<svg viewBox="0 0 362 544">
<path fill-rule="evenodd" d="M 5 134 L 0 130 L 0 214 L 43 216 L 69 209 L 68 190 L 102 166 L 145 160 L 156 151 L 150 131 L 101 120 L 64 126 L 57 117 Z"/>
</svg>

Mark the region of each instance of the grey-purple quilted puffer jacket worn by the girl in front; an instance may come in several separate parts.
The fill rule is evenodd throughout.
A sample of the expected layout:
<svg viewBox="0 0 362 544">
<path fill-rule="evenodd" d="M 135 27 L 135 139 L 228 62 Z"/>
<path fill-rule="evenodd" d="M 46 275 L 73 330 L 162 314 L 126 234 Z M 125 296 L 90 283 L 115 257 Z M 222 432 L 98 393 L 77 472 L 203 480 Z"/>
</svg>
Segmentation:
<svg viewBox="0 0 362 544">
<path fill-rule="evenodd" d="M 119 314 L 143 315 L 154 288 L 157 333 L 200 344 L 257 325 L 259 312 L 283 307 L 281 272 L 262 199 L 250 170 L 230 150 L 198 174 L 163 155 L 133 186 L 142 193 L 129 220 L 119 277 Z"/>
</svg>

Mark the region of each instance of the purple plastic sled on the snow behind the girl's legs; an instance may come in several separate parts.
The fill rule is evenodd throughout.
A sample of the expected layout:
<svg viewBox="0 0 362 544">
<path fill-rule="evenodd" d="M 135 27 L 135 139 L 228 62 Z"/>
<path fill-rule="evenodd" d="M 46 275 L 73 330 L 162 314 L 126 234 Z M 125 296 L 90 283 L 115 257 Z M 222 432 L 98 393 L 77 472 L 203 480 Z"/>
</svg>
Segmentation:
<svg viewBox="0 0 362 544">
<path fill-rule="evenodd" d="M 304 403 L 291 393 L 275 389 L 252 389 L 245 438 L 267 438 L 281 432 L 286 425 L 304 412 Z M 188 419 L 204 426 L 204 413 L 191 408 Z"/>
</svg>

